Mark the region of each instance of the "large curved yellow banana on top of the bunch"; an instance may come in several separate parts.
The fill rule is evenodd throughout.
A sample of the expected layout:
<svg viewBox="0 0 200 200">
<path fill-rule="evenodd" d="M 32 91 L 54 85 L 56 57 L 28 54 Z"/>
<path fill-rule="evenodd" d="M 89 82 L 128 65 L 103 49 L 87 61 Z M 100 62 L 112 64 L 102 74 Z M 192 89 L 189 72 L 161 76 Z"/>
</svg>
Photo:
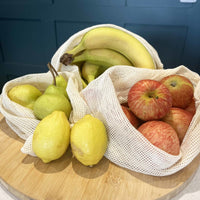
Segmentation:
<svg viewBox="0 0 200 200">
<path fill-rule="evenodd" d="M 107 48 L 124 55 L 133 66 L 155 69 L 154 61 L 146 47 L 130 34 L 112 27 L 89 30 L 81 42 L 68 54 L 76 55 L 85 49 Z"/>
</svg>

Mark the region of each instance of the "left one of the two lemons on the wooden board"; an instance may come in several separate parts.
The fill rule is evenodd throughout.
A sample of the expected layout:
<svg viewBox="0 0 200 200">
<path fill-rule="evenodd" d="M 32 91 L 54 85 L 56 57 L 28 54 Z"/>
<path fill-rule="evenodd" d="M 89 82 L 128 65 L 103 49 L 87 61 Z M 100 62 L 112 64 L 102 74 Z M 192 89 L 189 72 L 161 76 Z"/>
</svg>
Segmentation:
<svg viewBox="0 0 200 200">
<path fill-rule="evenodd" d="M 70 124 L 63 111 L 54 111 L 37 125 L 32 140 L 33 152 L 44 162 L 60 158 L 70 140 Z"/>
</svg>

